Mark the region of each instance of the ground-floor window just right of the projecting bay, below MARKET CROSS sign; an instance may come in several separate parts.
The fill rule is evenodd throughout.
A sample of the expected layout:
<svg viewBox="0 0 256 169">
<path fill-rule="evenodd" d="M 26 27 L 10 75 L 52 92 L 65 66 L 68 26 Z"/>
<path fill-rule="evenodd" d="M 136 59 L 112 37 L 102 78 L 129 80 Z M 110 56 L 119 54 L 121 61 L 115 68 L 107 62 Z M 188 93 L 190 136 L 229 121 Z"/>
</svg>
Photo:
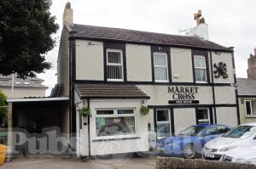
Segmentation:
<svg viewBox="0 0 256 169">
<path fill-rule="evenodd" d="M 171 113 L 169 109 L 156 110 L 157 139 L 171 136 Z"/>
</svg>

